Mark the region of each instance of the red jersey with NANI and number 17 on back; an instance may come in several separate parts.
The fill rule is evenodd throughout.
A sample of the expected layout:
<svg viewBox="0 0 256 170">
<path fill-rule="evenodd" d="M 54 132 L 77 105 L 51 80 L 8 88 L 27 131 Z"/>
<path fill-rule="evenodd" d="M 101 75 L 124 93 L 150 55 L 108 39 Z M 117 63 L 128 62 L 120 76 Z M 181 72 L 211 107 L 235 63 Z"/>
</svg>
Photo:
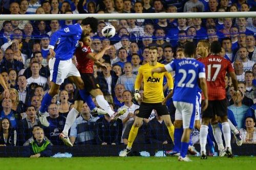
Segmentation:
<svg viewBox="0 0 256 170">
<path fill-rule="evenodd" d="M 226 98 L 225 75 L 233 72 L 231 63 L 221 56 L 209 55 L 200 59 L 205 65 L 208 100 L 223 100 Z"/>
</svg>

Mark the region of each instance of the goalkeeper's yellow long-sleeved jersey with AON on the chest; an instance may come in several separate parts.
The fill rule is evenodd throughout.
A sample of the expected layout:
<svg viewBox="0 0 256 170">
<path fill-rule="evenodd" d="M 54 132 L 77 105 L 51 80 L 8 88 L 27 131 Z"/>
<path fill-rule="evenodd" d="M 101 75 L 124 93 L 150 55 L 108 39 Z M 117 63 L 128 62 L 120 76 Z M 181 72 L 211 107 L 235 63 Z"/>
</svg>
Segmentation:
<svg viewBox="0 0 256 170">
<path fill-rule="evenodd" d="M 169 89 L 173 89 L 174 82 L 172 75 L 168 72 L 154 73 L 151 75 L 151 70 L 157 67 L 163 67 L 164 64 L 158 63 L 155 66 L 151 66 L 149 63 L 146 63 L 140 66 L 138 70 L 138 76 L 135 82 L 135 89 L 140 89 L 140 84 L 143 79 L 144 82 L 144 94 L 143 102 L 144 103 L 161 103 L 164 99 L 163 95 L 163 77 L 167 78 L 167 83 Z"/>
</svg>

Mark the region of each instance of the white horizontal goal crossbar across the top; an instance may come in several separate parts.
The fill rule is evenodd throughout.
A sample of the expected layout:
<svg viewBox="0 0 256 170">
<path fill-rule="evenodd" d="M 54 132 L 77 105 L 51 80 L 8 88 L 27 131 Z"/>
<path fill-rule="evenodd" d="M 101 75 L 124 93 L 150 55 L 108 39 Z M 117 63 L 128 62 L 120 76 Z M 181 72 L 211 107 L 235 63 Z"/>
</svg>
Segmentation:
<svg viewBox="0 0 256 170">
<path fill-rule="evenodd" d="M 0 20 L 65 20 L 95 17 L 98 19 L 156 19 L 156 18 L 237 18 L 256 17 L 256 12 L 180 12 L 180 13 L 113 13 L 113 14 L 18 14 L 0 15 Z"/>
</svg>

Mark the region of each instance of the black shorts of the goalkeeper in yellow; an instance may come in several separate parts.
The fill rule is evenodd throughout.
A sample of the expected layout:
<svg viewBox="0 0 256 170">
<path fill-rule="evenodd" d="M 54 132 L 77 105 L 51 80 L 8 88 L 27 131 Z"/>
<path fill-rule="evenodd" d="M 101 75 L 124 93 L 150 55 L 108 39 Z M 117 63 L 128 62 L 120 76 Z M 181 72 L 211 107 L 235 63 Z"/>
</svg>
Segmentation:
<svg viewBox="0 0 256 170">
<path fill-rule="evenodd" d="M 152 110 L 155 109 L 157 111 L 157 115 L 168 115 L 168 109 L 166 105 L 162 105 L 162 103 L 144 103 L 140 104 L 139 113 L 136 115 L 141 118 L 149 118 Z"/>
</svg>

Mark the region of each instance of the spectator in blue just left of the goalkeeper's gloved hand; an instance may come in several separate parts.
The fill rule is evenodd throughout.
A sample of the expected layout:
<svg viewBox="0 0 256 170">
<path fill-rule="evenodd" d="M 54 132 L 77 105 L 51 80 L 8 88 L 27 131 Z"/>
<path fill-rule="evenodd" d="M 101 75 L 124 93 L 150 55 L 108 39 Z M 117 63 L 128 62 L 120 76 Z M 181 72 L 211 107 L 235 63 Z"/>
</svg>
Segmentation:
<svg viewBox="0 0 256 170">
<path fill-rule="evenodd" d="M 115 110 L 117 110 L 119 107 L 123 106 L 123 91 L 125 90 L 124 85 L 122 84 L 116 84 L 115 87 L 115 95 L 113 97 Z"/>
</svg>

